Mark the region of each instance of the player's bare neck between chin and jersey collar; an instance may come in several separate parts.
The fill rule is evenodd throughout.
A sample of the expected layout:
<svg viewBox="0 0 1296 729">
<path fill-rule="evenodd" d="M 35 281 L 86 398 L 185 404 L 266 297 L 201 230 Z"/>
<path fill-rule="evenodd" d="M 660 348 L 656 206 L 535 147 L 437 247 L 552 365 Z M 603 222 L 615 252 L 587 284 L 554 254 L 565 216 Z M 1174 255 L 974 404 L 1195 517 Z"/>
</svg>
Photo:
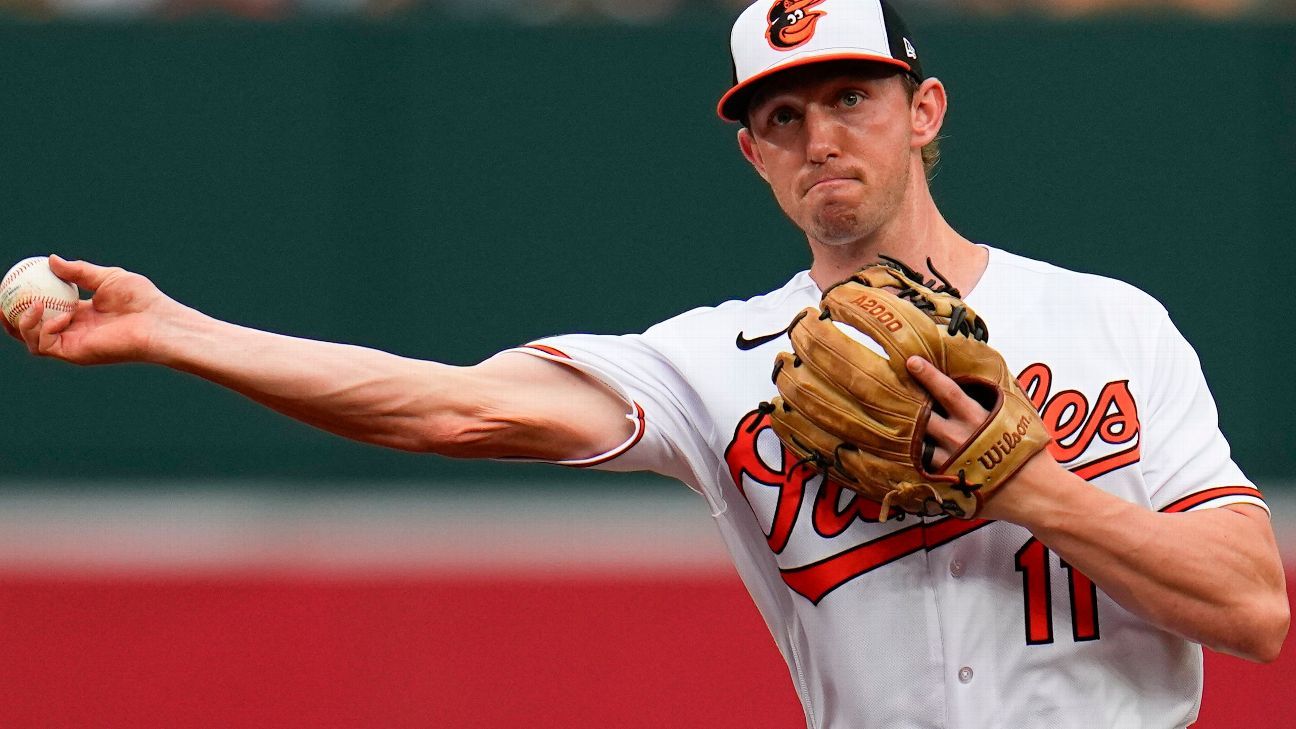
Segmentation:
<svg viewBox="0 0 1296 729">
<path fill-rule="evenodd" d="M 933 267 L 964 296 L 972 291 L 985 272 L 986 250 L 945 222 L 925 179 L 910 192 L 907 198 L 912 202 L 867 237 L 835 245 L 809 239 L 814 256 L 810 278 L 820 291 L 864 266 L 877 263 L 879 254 L 903 261 L 920 272 L 927 272 L 927 259 L 931 258 Z"/>
</svg>

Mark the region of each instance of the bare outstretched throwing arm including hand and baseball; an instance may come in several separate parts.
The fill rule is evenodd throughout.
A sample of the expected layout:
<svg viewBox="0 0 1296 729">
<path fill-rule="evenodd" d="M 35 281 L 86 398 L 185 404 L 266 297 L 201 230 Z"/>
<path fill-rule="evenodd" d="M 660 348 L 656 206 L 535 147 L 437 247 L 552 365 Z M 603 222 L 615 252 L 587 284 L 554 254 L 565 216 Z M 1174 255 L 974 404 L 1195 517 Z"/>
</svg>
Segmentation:
<svg viewBox="0 0 1296 729">
<path fill-rule="evenodd" d="M 533 357 L 452 367 L 263 332 L 184 306 L 143 275 L 58 256 L 48 266 L 27 265 L 16 285 L 4 328 L 32 354 L 74 364 L 163 364 L 363 442 L 565 460 L 603 453 L 632 429 L 619 396 Z M 76 287 L 93 296 L 78 301 Z"/>
</svg>

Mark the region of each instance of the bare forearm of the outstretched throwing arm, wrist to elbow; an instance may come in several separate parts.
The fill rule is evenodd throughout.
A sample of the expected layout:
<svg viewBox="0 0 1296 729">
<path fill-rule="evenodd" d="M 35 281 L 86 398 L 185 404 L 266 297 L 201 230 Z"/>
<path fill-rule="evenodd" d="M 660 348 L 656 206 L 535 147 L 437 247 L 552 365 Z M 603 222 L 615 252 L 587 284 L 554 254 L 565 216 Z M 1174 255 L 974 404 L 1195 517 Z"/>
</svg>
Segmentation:
<svg viewBox="0 0 1296 729">
<path fill-rule="evenodd" d="M 158 323 L 148 361 L 236 390 L 349 438 L 445 450 L 467 403 L 464 368 L 219 322 L 178 309 Z"/>
</svg>

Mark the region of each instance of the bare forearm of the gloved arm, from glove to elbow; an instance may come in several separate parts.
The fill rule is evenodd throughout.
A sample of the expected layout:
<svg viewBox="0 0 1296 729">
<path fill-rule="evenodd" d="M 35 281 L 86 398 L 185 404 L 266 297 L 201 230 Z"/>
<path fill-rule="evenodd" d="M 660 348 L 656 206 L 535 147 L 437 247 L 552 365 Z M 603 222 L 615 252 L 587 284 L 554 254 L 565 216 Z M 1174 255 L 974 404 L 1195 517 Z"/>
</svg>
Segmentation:
<svg viewBox="0 0 1296 729">
<path fill-rule="evenodd" d="M 1130 612 L 1222 652 L 1277 655 L 1288 608 L 1271 533 L 1253 523 L 1262 515 L 1153 512 L 1051 459 L 1033 460 L 1001 497 L 997 518 L 1030 529 Z"/>
</svg>

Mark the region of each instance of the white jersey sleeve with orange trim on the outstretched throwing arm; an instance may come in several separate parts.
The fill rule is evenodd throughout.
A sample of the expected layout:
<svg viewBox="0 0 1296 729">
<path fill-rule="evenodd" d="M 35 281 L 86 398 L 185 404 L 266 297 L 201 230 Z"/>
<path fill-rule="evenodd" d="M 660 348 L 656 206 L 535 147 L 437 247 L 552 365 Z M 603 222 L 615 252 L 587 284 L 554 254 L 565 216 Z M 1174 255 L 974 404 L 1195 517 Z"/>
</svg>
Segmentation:
<svg viewBox="0 0 1296 729">
<path fill-rule="evenodd" d="M 635 424 L 608 453 L 560 466 L 603 471 L 652 471 L 701 492 L 699 473 L 709 449 L 699 423 L 705 409 L 674 363 L 643 335 L 564 335 L 508 352 L 574 367 L 616 392 Z"/>
</svg>

